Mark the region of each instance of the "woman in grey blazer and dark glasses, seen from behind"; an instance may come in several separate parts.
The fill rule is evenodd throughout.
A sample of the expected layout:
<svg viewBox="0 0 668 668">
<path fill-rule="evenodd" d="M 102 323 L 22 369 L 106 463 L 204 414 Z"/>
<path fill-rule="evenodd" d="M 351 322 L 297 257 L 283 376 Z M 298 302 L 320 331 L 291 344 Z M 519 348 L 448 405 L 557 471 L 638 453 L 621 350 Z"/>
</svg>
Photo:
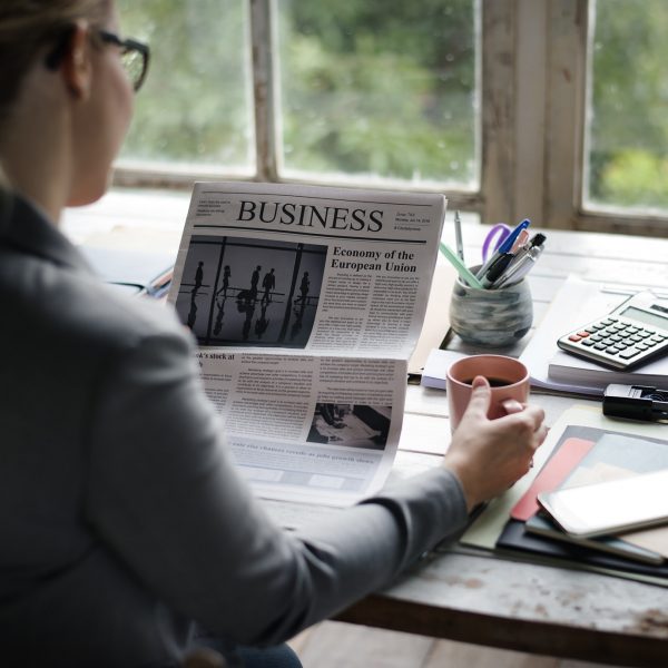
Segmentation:
<svg viewBox="0 0 668 668">
<path fill-rule="evenodd" d="M 230 464 L 189 334 L 108 291 L 58 230 L 105 193 L 130 122 L 148 52 L 118 35 L 109 0 L 0 4 L 3 667 L 171 666 L 202 641 L 193 620 L 283 642 L 459 531 L 546 435 L 531 406 L 489 422 L 478 379 L 441 468 L 299 537 L 276 528 Z"/>
</svg>

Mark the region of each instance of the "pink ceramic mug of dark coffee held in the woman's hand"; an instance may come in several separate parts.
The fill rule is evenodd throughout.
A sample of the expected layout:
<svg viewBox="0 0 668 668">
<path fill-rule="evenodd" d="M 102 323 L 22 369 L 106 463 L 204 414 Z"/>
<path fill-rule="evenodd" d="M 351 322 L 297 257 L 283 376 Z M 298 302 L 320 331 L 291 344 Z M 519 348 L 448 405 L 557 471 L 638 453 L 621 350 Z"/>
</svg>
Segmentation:
<svg viewBox="0 0 668 668">
<path fill-rule="evenodd" d="M 492 386 L 492 402 L 488 411 L 490 420 L 505 415 L 501 405 L 504 400 L 517 399 L 527 403 L 529 399 L 529 371 L 518 360 L 503 355 L 471 355 L 458 360 L 450 365 L 446 380 L 452 431 L 469 405 L 473 391 L 471 383 L 478 375 L 484 376 Z"/>
</svg>

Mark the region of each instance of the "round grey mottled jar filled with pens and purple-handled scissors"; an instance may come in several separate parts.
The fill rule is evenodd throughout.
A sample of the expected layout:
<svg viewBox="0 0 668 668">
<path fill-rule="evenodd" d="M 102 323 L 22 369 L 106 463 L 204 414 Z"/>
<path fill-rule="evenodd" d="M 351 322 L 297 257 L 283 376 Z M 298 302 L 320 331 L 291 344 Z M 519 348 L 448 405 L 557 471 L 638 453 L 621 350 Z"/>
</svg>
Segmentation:
<svg viewBox="0 0 668 668">
<path fill-rule="evenodd" d="M 461 257 L 459 232 L 458 255 L 441 244 L 441 252 L 459 273 L 450 301 L 450 326 L 465 343 L 508 346 L 531 328 L 533 304 L 525 276 L 540 257 L 546 237 L 540 233 L 530 237 L 529 225 L 529 220 L 514 229 L 494 225 L 484 240 L 482 264 L 470 268 Z"/>
</svg>

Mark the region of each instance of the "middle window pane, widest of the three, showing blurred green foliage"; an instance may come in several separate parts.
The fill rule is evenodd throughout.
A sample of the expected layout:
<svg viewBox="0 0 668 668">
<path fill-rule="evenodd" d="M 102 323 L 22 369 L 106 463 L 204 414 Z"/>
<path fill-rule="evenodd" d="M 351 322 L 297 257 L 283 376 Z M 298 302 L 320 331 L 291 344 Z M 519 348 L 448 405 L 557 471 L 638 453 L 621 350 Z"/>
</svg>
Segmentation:
<svg viewBox="0 0 668 668">
<path fill-rule="evenodd" d="M 284 175 L 475 188 L 475 0 L 277 6 Z"/>
</svg>

